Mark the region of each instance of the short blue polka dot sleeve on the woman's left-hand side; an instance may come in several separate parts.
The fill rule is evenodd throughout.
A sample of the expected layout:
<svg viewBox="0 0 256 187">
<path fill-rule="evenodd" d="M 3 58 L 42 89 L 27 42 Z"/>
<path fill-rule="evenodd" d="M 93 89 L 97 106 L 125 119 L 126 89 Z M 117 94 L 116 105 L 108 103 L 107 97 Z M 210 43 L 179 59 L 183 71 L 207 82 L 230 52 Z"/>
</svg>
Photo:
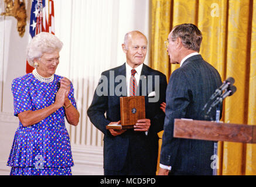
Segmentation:
<svg viewBox="0 0 256 187">
<path fill-rule="evenodd" d="M 14 116 L 27 110 L 32 110 L 32 99 L 25 79 L 16 78 L 12 81 Z"/>
</svg>

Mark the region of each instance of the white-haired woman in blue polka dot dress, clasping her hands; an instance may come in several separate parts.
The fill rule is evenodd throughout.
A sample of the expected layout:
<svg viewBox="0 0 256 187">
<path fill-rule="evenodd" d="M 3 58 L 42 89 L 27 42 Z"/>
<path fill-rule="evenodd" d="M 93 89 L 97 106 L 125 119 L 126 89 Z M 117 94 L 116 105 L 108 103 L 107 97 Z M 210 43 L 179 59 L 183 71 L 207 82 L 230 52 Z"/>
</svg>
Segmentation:
<svg viewBox="0 0 256 187">
<path fill-rule="evenodd" d="M 19 127 L 7 165 L 11 175 L 71 175 L 74 165 L 67 122 L 77 126 L 73 85 L 54 74 L 62 41 L 50 33 L 39 33 L 28 46 L 31 74 L 12 82 L 14 115 Z"/>
</svg>

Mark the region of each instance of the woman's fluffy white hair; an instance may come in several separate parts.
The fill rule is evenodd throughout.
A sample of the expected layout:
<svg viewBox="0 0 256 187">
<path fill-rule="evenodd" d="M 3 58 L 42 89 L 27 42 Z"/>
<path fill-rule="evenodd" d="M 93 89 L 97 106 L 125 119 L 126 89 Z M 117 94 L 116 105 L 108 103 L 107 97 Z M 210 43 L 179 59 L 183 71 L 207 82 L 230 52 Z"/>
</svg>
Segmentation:
<svg viewBox="0 0 256 187">
<path fill-rule="evenodd" d="M 27 60 L 33 65 L 36 58 L 42 57 L 43 53 L 52 53 L 62 50 L 63 43 L 51 33 L 41 32 L 37 34 L 28 44 Z"/>
</svg>

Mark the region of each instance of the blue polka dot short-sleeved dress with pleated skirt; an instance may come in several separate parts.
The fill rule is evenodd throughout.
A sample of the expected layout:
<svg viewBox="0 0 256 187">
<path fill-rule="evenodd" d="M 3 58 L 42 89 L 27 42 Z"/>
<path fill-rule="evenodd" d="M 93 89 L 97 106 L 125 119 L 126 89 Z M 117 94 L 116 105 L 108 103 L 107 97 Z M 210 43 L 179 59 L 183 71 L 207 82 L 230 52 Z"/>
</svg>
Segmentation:
<svg viewBox="0 0 256 187">
<path fill-rule="evenodd" d="M 50 83 L 40 82 L 33 74 L 14 79 L 14 115 L 52 105 L 62 78 L 54 75 Z M 76 108 L 73 85 L 70 87 L 69 99 Z M 64 117 L 62 107 L 32 126 L 23 127 L 19 122 L 7 162 L 12 167 L 10 175 L 71 175 L 74 163 Z"/>
</svg>

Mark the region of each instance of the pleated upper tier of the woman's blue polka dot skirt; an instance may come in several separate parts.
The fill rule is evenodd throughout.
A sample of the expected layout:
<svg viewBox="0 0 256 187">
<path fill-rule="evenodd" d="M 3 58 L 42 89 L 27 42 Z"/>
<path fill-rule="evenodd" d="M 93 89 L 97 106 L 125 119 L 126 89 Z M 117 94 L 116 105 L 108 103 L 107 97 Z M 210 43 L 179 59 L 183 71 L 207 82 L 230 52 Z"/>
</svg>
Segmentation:
<svg viewBox="0 0 256 187">
<path fill-rule="evenodd" d="M 20 127 L 12 144 L 7 162 L 11 167 L 35 167 L 42 162 L 45 167 L 71 167 L 74 165 L 67 130 L 48 124 L 48 130 L 38 128 L 42 122 L 30 127 Z M 51 129 L 51 130 L 49 130 Z"/>
</svg>

